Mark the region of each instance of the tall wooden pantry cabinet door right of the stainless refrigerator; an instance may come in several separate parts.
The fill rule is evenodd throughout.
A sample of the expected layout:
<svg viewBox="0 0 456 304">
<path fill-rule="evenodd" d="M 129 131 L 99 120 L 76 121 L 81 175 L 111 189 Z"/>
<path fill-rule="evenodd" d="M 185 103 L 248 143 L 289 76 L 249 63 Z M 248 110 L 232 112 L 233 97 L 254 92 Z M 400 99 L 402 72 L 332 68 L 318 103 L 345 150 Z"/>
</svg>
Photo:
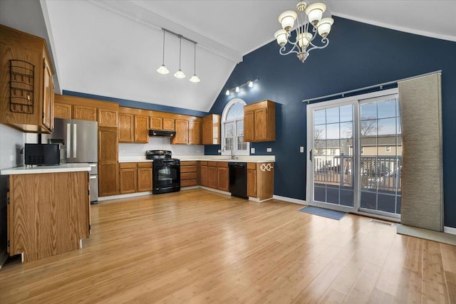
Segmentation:
<svg viewBox="0 0 456 304">
<path fill-rule="evenodd" d="M 119 194 L 118 129 L 98 128 L 98 195 Z"/>
</svg>

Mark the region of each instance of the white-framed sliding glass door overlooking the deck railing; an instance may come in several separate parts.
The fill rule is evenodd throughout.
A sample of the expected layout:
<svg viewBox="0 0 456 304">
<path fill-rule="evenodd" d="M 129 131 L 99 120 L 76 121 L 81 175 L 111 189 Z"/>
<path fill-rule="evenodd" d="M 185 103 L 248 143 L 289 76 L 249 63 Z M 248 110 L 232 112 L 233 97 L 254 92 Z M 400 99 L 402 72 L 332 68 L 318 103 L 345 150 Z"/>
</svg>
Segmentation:
<svg viewBox="0 0 456 304">
<path fill-rule="evenodd" d="M 307 201 L 339 211 L 400 214 L 397 90 L 307 106 Z"/>
</svg>

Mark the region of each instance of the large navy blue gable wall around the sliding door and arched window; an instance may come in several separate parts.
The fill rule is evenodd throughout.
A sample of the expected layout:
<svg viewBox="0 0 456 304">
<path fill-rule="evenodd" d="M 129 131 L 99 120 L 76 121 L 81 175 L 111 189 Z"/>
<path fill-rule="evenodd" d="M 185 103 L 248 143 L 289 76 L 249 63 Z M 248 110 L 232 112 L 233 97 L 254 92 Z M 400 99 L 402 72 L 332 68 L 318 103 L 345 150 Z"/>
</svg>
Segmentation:
<svg viewBox="0 0 456 304">
<path fill-rule="evenodd" d="M 329 46 L 311 52 L 305 63 L 294 55 L 279 55 L 275 41 L 244 56 L 210 112 L 221 114 L 232 98 L 247 104 L 265 99 L 279 103 L 276 141 L 252 147 L 256 154 L 269 154 L 266 147 L 271 147 L 276 155 L 274 194 L 306 199 L 308 153 L 299 153 L 300 146 L 306 147 L 306 104 L 301 100 L 442 70 L 445 226 L 456 227 L 456 43 L 334 19 Z M 224 95 L 253 78 L 259 78 L 253 90 Z M 206 146 L 205 152 L 217 154 L 217 149 Z"/>
</svg>

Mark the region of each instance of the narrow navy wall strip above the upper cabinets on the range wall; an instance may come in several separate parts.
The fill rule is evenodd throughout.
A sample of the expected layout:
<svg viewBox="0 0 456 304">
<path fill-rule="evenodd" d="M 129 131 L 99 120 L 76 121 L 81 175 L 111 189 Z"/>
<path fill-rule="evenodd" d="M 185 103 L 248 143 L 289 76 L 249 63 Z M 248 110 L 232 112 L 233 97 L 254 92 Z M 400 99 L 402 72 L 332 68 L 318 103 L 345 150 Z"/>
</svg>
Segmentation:
<svg viewBox="0 0 456 304">
<path fill-rule="evenodd" d="M 74 92 L 74 91 L 69 91 L 69 90 L 63 90 L 62 94 L 81 97 L 81 98 L 91 98 L 91 99 L 110 101 L 113 103 L 119 103 L 120 106 L 128 107 L 128 108 L 138 108 L 138 109 L 145 109 L 145 110 L 170 112 L 170 113 L 175 113 L 175 114 L 191 115 L 191 116 L 205 116 L 208 114 L 207 112 L 170 107 L 168 105 L 155 105 L 155 103 L 142 103 L 140 101 L 135 101 L 135 100 L 113 98 L 113 97 L 107 97 L 107 96 L 102 96 L 102 95 L 93 95 L 93 94 Z"/>
</svg>

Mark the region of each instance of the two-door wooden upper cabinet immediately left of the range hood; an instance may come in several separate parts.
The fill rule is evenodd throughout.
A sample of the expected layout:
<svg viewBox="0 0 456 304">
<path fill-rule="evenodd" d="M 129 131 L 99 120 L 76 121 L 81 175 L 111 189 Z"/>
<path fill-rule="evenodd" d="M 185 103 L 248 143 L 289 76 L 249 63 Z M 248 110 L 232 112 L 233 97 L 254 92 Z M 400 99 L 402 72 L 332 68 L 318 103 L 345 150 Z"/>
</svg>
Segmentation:
<svg viewBox="0 0 456 304">
<path fill-rule="evenodd" d="M 119 107 L 119 142 L 149 142 L 150 111 Z"/>
</svg>

